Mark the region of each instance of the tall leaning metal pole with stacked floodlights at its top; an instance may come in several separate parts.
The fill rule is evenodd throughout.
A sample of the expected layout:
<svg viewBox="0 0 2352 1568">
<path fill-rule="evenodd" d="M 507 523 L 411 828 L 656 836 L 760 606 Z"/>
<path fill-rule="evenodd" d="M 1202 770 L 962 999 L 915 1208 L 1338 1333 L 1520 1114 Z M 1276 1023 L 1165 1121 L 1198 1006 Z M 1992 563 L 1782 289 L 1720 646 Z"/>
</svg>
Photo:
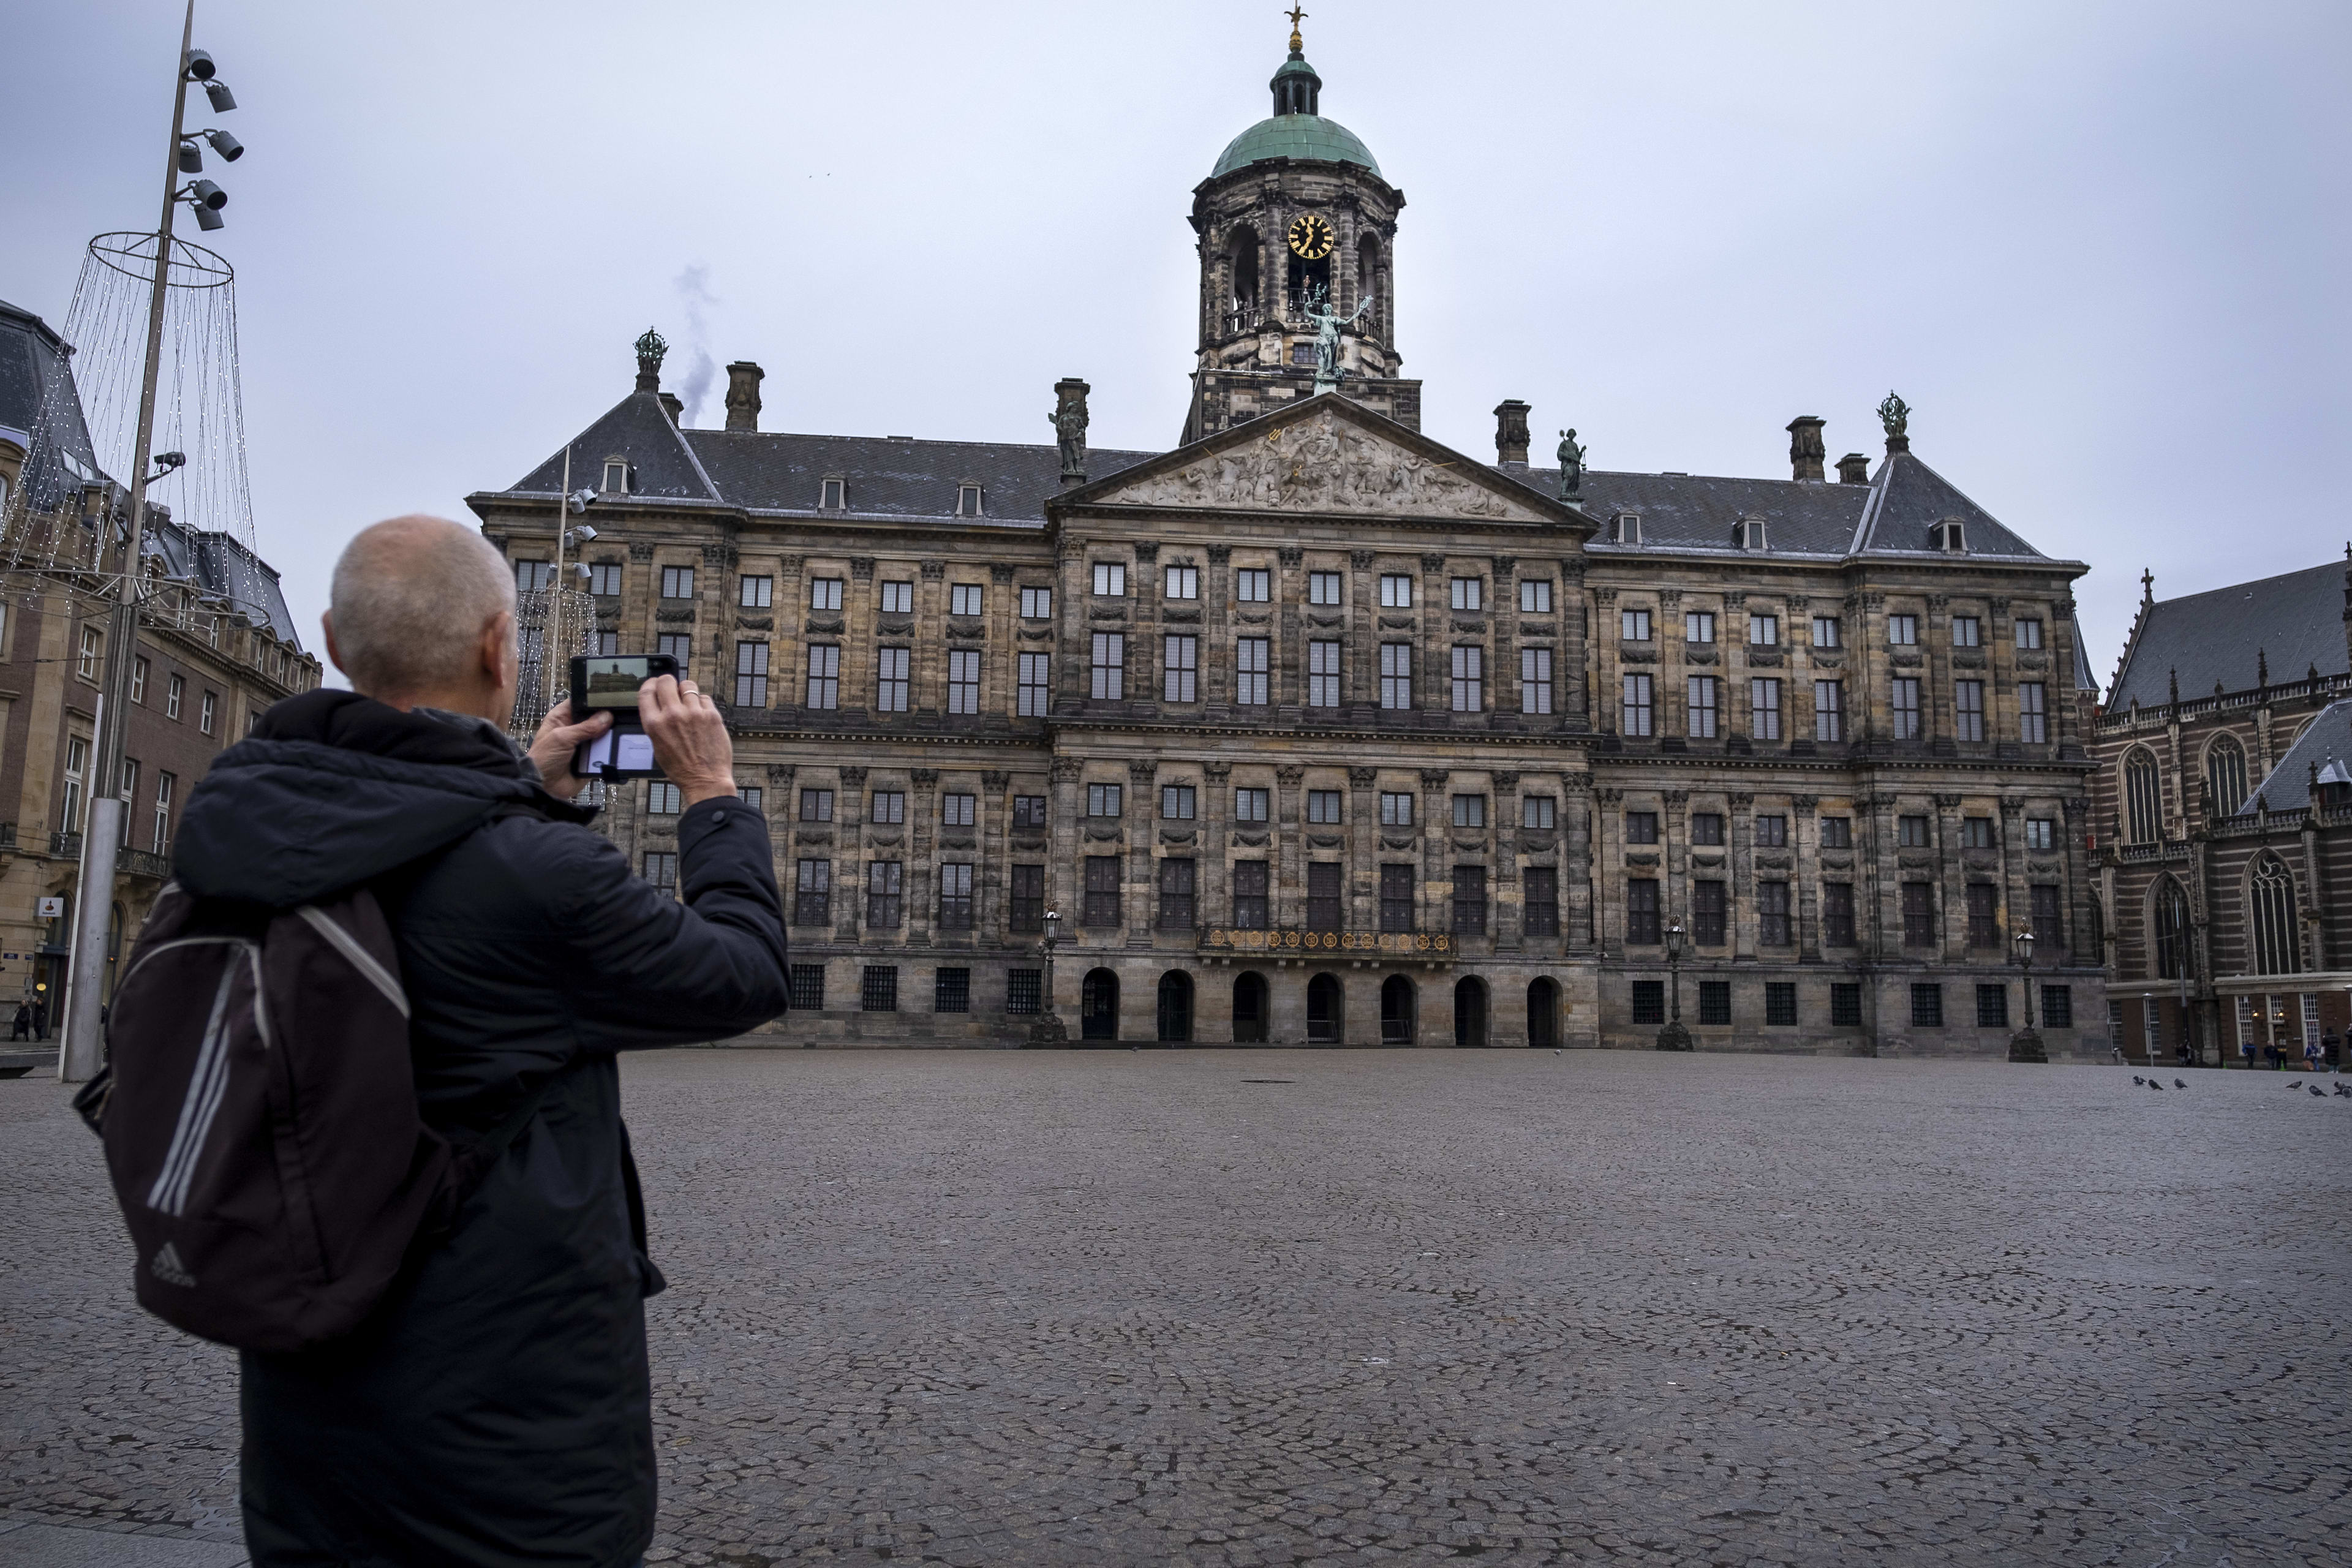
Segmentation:
<svg viewBox="0 0 2352 1568">
<path fill-rule="evenodd" d="M 179 73 L 172 85 L 172 139 L 165 143 L 162 167 L 162 223 L 155 230 L 155 277 L 148 287 L 146 369 L 139 381 L 139 418 L 132 435 L 132 451 L 139 461 L 129 475 L 129 522 L 125 527 L 122 555 L 118 557 L 115 609 L 106 632 L 106 691 L 96 710 L 99 733 L 92 778 L 99 780 L 99 788 L 89 792 L 82 865 L 75 879 L 73 959 L 66 971 L 66 1039 L 56 1060 L 56 1077 L 66 1084 L 96 1077 L 106 1058 L 99 1023 L 106 966 L 96 961 L 96 954 L 106 950 L 106 931 L 115 907 L 115 856 L 125 837 L 122 741 L 132 701 L 132 670 L 146 663 L 139 658 L 139 578 L 141 559 L 146 559 L 146 489 L 155 442 L 155 381 L 162 374 L 165 292 L 172 284 L 172 219 L 186 205 L 195 212 L 198 228 L 214 230 L 221 228 L 221 207 L 228 205 L 228 193 L 209 179 L 198 179 L 188 186 L 179 183 L 179 176 L 191 172 L 186 160 L 195 146 L 193 134 L 186 129 L 188 87 L 200 85 L 205 96 L 212 99 L 214 113 L 228 113 L 238 106 L 228 85 L 214 80 L 216 66 L 212 56 L 193 47 L 193 40 L 195 0 L 188 0 L 179 28 Z M 226 162 L 235 162 L 245 153 L 235 136 L 205 134 L 205 139 L 212 141 L 212 148 Z"/>
</svg>

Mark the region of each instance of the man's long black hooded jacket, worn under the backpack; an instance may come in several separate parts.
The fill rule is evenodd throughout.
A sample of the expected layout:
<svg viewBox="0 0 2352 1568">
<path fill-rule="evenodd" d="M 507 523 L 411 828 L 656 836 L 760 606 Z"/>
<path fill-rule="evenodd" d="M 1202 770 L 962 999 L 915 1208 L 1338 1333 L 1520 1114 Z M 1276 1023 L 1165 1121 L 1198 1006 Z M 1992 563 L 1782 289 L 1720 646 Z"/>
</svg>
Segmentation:
<svg viewBox="0 0 2352 1568">
<path fill-rule="evenodd" d="M 287 907 L 386 879 L 428 1124 L 485 1133 L 555 1079 L 367 1328 L 245 1356 L 259 1568 L 616 1568 L 652 1540 L 642 1298 L 661 1274 L 614 1051 L 781 1013 L 783 907 L 736 799 L 680 818 L 684 903 L 588 816 L 489 724 L 350 691 L 280 703 L 188 799 L 174 875 L 193 893 Z"/>
</svg>

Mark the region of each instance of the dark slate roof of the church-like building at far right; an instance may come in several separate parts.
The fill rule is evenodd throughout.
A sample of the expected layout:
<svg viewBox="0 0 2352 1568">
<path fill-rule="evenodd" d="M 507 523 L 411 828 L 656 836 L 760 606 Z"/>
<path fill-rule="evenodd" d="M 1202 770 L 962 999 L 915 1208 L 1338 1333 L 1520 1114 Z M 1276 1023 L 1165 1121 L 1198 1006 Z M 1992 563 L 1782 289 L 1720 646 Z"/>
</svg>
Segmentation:
<svg viewBox="0 0 2352 1568">
<path fill-rule="evenodd" d="M 2107 708 L 2129 708 L 2133 698 L 2147 708 L 2169 703 L 2173 670 L 2183 698 L 2213 696 L 2213 682 L 2223 691 L 2251 691 L 2260 684 L 2263 654 L 2272 684 L 2298 682 L 2314 665 L 2321 675 L 2343 675 L 2352 663 L 2343 621 L 2347 569 L 2328 562 L 2147 604 Z"/>
</svg>

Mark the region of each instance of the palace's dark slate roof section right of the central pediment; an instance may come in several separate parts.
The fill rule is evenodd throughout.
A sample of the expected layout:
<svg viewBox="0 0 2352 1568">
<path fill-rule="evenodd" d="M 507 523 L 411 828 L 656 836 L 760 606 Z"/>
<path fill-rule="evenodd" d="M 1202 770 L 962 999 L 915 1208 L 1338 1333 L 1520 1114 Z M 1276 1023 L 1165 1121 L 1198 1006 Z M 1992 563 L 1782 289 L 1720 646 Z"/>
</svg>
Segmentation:
<svg viewBox="0 0 2352 1568">
<path fill-rule="evenodd" d="M 1557 468 L 1505 470 L 1543 494 L 1559 494 Z M 1722 550 L 1755 555 L 1731 543 L 1740 517 L 1764 520 L 1764 555 L 1922 555 L 1929 527 L 1945 517 L 1966 524 L 1971 557 L 2046 559 L 1950 480 L 1907 451 L 1889 454 L 1870 484 L 1820 480 L 1736 480 L 1719 475 L 1661 475 L 1588 470 L 1583 510 L 1606 522 L 1621 510 L 1642 515 L 1639 545 L 1597 536 L 1588 550 Z"/>
</svg>

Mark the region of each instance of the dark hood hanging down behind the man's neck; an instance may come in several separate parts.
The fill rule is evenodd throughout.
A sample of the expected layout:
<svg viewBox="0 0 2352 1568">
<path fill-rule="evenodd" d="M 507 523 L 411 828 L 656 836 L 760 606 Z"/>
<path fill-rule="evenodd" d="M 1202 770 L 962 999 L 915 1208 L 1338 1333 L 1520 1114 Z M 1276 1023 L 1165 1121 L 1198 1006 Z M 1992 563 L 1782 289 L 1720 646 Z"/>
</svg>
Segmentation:
<svg viewBox="0 0 2352 1568">
<path fill-rule="evenodd" d="M 306 691 L 214 759 L 181 816 L 172 875 L 205 898 L 285 910 L 433 853 L 503 804 L 595 816 L 541 790 L 485 719 Z"/>
</svg>

